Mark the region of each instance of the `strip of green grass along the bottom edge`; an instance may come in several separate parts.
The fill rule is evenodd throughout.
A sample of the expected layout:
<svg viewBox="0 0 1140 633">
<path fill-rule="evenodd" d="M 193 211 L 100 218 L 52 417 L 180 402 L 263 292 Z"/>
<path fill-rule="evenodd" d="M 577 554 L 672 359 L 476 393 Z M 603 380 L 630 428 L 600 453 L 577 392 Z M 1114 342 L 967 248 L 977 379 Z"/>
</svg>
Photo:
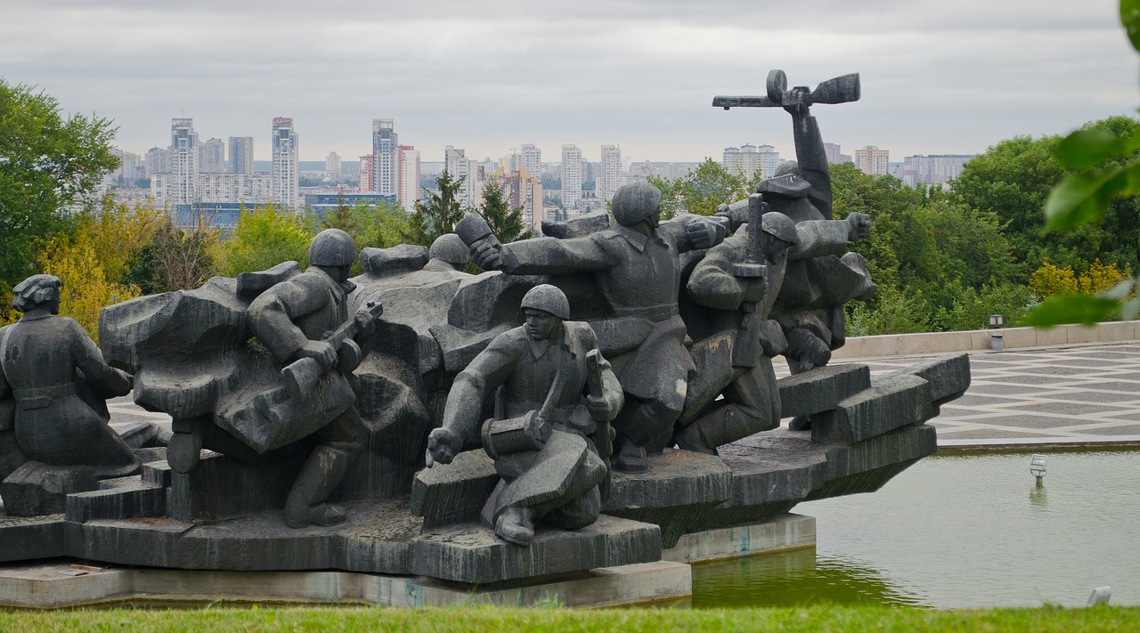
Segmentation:
<svg viewBox="0 0 1140 633">
<path fill-rule="evenodd" d="M 931 610 L 799 609 L 211 608 L 0 611 L 0 631 L 1140 631 L 1140 607 Z"/>
</svg>

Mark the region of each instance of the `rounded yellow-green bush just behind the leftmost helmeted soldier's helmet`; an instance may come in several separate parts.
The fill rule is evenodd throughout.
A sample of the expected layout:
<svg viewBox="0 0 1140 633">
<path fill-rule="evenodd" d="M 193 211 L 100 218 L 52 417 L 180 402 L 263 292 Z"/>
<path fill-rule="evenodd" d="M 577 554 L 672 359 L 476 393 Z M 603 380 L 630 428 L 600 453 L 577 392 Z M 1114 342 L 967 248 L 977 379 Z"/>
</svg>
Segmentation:
<svg viewBox="0 0 1140 633">
<path fill-rule="evenodd" d="M 236 277 L 239 273 L 264 270 L 283 261 L 309 266 L 309 241 L 314 230 L 304 218 L 279 213 L 272 204 L 242 210 L 234 235 L 215 250 L 218 273 Z"/>
</svg>

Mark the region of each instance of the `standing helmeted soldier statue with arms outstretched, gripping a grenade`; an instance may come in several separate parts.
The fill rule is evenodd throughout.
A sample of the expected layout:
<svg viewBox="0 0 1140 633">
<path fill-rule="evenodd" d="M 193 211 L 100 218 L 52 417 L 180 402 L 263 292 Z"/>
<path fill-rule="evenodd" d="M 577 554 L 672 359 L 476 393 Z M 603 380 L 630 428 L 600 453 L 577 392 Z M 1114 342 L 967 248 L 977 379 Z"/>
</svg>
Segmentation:
<svg viewBox="0 0 1140 633">
<path fill-rule="evenodd" d="M 610 314 L 591 325 L 626 393 L 626 411 L 614 422 L 614 468 L 644 472 L 648 455 L 660 453 L 669 440 L 694 370 L 678 314 L 679 255 L 717 244 L 727 230 L 698 216 L 661 224 L 661 192 L 644 181 L 618 189 L 612 203 L 617 226 L 592 235 L 504 245 L 477 241 L 470 246 L 472 259 L 484 269 L 593 274 Z"/>
</svg>

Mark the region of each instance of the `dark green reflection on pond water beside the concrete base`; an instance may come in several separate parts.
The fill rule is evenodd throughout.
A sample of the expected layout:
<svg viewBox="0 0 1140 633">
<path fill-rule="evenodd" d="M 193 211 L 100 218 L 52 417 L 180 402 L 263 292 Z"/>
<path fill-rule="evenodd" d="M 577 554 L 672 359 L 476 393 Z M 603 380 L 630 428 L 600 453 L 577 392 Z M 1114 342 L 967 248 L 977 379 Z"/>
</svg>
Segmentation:
<svg viewBox="0 0 1140 633">
<path fill-rule="evenodd" d="M 693 566 L 695 608 L 804 604 L 919 606 L 878 570 L 847 557 L 816 557 L 814 549 Z"/>
</svg>

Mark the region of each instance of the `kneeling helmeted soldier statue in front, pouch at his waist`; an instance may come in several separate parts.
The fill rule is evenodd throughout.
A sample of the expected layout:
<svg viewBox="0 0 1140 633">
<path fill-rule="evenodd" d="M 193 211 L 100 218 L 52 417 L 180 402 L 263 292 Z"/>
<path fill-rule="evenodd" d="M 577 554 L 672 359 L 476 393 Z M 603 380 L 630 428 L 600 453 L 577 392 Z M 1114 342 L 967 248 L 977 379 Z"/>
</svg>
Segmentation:
<svg viewBox="0 0 1140 633">
<path fill-rule="evenodd" d="M 503 478 L 483 508 L 483 522 L 503 539 L 528 545 L 535 524 L 564 529 L 593 524 L 601 512 L 598 484 L 606 477 L 595 444 L 600 424 L 621 409 L 621 384 L 598 356 L 601 393 L 588 388 L 587 354 L 597 348 L 589 324 L 567 320 L 570 303 L 561 290 L 539 285 L 522 299 L 527 324 L 497 336 L 455 379 L 443 409 L 443 424 L 427 438 L 427 464 L 450 463 L 464 445 L 480 436 Z M 480 412 L 496 392 L 504 420 L 526 419 L 548 409 L 549 429 L 524 449 L 492 446 Z M 548 406 L 544 404 L 548 401 Z M 605 438 L 606 443 L 609 437 Z"/>
</svg>

